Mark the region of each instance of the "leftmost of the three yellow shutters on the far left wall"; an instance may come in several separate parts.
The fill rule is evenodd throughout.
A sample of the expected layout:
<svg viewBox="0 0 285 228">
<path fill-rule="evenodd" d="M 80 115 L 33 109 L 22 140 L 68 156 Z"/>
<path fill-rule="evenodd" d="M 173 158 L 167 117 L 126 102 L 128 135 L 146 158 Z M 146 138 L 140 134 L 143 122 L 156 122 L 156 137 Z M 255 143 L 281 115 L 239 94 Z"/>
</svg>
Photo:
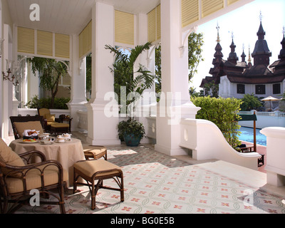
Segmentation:
<svg viewBox="0 0 285 228">
<path fill-rule="evenodd" d="M 35 31 L 18 27 L 18 52 L 35 53 Z"/>
</svg>

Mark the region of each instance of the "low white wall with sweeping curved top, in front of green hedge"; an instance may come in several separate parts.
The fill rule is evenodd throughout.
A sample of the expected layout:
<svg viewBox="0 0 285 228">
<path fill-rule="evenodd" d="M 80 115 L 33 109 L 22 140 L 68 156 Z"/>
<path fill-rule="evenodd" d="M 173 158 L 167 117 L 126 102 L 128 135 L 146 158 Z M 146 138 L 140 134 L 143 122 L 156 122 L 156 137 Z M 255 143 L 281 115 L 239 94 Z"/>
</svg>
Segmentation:
<svg viewBox="0 0 285 228">
<path fill-rule="evenodd" d="M 259 153 L 241 153 L 234 150 L 217 125 L 208 120 L 182 119 L 180 146 L 192 150 L 196 160 L 217 159 L 236 165 L 258 169 Z"/>
</svg>

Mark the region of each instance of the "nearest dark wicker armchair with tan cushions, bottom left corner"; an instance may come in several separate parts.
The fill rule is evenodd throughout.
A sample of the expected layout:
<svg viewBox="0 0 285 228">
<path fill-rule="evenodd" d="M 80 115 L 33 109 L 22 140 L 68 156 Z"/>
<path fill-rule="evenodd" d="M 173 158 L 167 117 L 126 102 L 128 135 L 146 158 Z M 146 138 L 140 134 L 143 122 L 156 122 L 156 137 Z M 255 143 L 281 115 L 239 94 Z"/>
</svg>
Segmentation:
<svg viewBox="0 0 285 228">
<path fill-rule="evenodd" d="M 31 164 L 38 158 L 41 162 Z M 0 138 L 0 212 L 2 214 L 13 213 L 23 204 L 28 204 L 33 196 L 30 192 L 35 189 L 41 193 L 41 196 L 52 195 L 58 199 L 58 202 L 44 201 L 40 204 L 58 204 L 61 213 L 65 214 L 63 191 L 66 180 L 68 180 L 68 174 L 59 162 L 46 160 L 45 155 L 39 151 L 17 155 Z M 55 189 L 58 190 L 58 194 L 50 191 Z"/>
</svg>

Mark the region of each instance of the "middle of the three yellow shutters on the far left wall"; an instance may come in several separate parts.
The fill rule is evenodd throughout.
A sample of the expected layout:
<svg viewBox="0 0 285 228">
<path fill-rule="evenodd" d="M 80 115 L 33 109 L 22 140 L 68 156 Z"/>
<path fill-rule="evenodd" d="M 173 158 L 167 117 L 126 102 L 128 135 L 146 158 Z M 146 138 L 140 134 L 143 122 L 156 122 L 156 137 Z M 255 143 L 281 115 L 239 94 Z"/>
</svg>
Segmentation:
<svg viewBox="0 0 285 228">
<path fill-rule="evenodd" d="M 43 56 L 53 56 L 53 33 L 37 31 L 37 53 Z"/>
</svg>

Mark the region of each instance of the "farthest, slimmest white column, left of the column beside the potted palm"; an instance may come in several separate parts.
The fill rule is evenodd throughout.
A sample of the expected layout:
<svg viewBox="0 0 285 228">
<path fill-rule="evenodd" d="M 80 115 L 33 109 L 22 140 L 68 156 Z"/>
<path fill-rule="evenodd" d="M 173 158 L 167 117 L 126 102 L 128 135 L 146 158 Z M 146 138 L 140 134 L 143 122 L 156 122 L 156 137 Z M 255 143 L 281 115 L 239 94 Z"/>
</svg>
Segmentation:
<svg viewBox="0 0 285 228">
<path fill-rule="evenodd" d="M 78 110 L 86 110 L 86 58 L 79 59 L 79 38 L 72 36 L 72 65 L 71 65 L 71 101 L 68 109 L 71 111 L 71 130 L 78 130 Z"/>
</svg>

